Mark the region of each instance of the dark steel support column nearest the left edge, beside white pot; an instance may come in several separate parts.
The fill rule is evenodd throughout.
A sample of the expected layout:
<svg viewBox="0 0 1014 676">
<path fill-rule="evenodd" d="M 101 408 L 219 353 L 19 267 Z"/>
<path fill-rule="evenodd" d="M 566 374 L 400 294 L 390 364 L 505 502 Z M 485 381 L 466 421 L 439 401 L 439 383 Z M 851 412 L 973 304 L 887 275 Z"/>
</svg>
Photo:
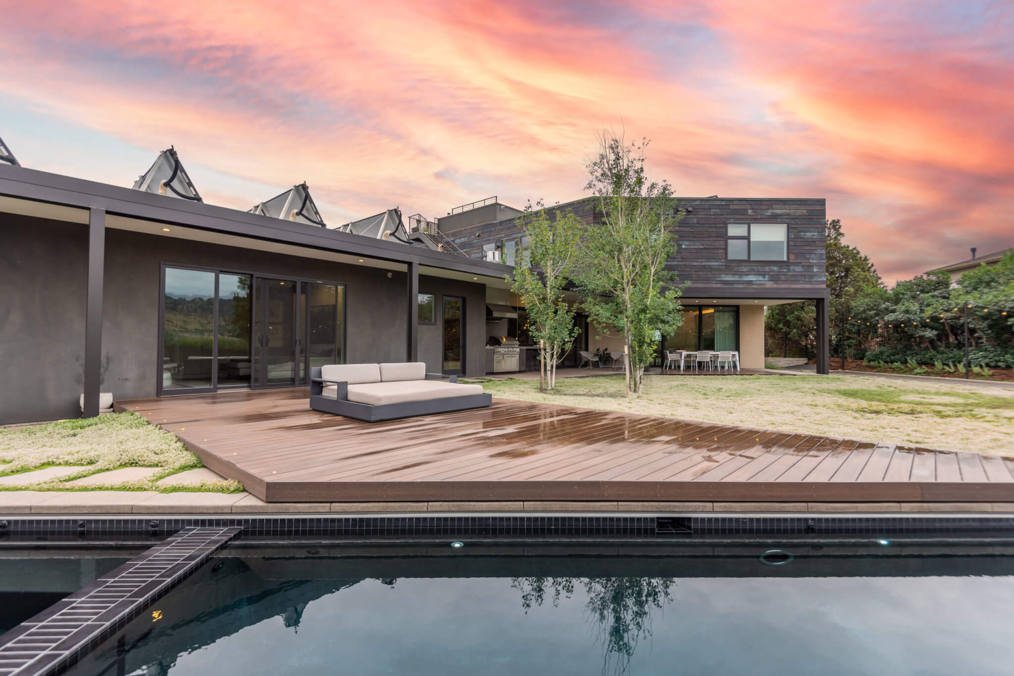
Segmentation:
<svg viewBox="0 0 1014 676">
<path fill-rule="evenodd" d="M 84 318 L 84 417 L 98 415 L 102 379 L 102 278 L 105 266 L 105 210 L 88 215 L 88 291 Z"/>
</svg>

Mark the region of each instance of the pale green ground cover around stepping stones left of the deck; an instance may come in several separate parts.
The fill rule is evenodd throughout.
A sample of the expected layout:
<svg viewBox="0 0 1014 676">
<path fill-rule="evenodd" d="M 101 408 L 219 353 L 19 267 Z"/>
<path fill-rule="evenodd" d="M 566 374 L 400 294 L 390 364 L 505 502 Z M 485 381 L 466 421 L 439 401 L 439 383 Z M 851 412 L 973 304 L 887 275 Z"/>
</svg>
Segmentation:
<svg viewBox="0 0 1014 676">
<path fill-rule="evenodd" d="M 218 493 L 242 490 L 238 481 L 227 479 L 191 485 L 173 485 L 171 481 L 156 484 L 159 479 L 201 467 L 201 461 L 175 436 L 132 412 L 0 430 L 0 476 L 51 466 L 74 466 L 80 471 L 28 484 L 0 485 L 0 490 L 184 490 Z M 152 474 L 143 479 L 100 486 L 71 486 L 67 483 L 123 467 L 151 467 Z"/>
</svg>

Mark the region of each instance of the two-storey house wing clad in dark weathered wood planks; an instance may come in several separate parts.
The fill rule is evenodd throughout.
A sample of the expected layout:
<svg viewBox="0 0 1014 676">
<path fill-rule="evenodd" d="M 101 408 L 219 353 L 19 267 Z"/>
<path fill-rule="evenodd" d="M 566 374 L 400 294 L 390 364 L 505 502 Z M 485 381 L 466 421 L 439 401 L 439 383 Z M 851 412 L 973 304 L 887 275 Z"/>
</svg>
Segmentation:
<svg viewBox="0 0 1014 676">
<path fill-rule="evenodd" d="M 591 223 L 594 205 L 594 199 L 584 199 L 548 209 L 551 217 L 558 210 L 570 211 Z M 676 227 L 678 250 L 668 266 L 690 286 L 681 299 L 683 323 L 673 335 L 659 336 L 659 349 L 738 350 L 743 367 L 764 368 L 765 307 L 815 301 L 821 346 L 817 371 L 827 373 L 824 200 L 678 198 L 676 205 L 682 212 Z M 490 198 L 414 225 L 473 258 L 513 266 L 524 238 L 521 213 Z M 489 293 L 491 308 L 507 308 L 502 314 L 489 313 L 490 342 L 504 335 L 525 345 L 525 314 L 518 299 L 501 289 Z M 517 308 L 514 316 L 511 306 Z M 572 365 L 579 363 L 581 350 L 622 348 L 618 336 L 589 326 L 582 315 L 578 319 L 581 333 L 566 358 Z"/>
</svg>

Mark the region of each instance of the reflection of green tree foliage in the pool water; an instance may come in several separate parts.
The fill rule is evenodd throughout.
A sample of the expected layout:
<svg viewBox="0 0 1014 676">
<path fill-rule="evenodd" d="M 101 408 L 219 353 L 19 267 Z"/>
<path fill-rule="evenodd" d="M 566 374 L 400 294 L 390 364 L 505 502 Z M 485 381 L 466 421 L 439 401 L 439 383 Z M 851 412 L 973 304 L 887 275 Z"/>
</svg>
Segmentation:
<svg viewBox="0 0 1014 676">
<path fill-rule="evenodd" d="M 641 639 L 651 636 L 651 612 L 672 601 L 673 578 L 513 578 L 527 612 L 547 600 L 554 606 L 570 598 L 576 585 L 584 588 L 585 614 L 601 633 L 602 673 L 627 673 Z"/>
</svg>

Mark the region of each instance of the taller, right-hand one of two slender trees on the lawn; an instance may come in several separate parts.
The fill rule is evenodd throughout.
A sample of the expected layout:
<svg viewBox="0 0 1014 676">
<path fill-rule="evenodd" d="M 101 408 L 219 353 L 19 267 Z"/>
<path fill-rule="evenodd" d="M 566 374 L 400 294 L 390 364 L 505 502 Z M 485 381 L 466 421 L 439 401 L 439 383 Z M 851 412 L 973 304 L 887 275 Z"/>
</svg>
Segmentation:
<svg viewBox="0 0 1014 676">
<path fill-rule="evenodd" d="M 628 145 L 611 132 L 599 137 L 585 186 L 595 196 L 597 218 L 585 228 L 576 277 L 589 319 L 623 336 L 628 394 L 641 391 L 656 331 L 671 333 L 682 322 L 682 287 L 665 267 L 676 250 L 672 228 L 681 215 L 669 183 L 648 178 L 647 147 L 646 139 Z"/>
</svg>

